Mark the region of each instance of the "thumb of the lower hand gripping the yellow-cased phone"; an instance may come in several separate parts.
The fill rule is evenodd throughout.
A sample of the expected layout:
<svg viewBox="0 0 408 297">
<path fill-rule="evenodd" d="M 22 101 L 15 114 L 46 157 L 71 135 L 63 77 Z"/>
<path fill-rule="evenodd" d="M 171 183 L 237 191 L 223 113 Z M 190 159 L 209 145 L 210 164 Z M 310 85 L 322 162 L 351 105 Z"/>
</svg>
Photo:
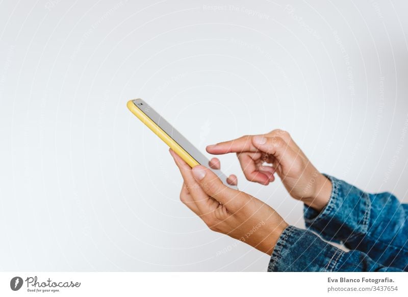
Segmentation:
<svg viewBox="0 0 408 297">
<path fill-rule="evenodd" d="M 205 166 L 197 165 L 193 167 L 192 173 L 194 179 L 207 195 L 233 211 L 242 207 L 246 194 L 224 185 L 213 171 Z"/>
</svg>

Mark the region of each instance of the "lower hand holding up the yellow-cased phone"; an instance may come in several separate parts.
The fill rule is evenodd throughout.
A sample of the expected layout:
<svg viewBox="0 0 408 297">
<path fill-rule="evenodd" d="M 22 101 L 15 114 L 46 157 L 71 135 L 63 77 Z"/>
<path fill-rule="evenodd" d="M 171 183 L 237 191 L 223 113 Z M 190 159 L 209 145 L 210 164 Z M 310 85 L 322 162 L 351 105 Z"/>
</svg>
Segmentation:
<svg viewBox="0 0 408 297">
<path fill-rule="evenodd" d="M 193 169 L 170 150 L 184 179 L 180 200 L 207 226 L 271 255 L 288 226 L 270 206 L 251 195 L 225 186 L 205 166 Z"/>
</svg>

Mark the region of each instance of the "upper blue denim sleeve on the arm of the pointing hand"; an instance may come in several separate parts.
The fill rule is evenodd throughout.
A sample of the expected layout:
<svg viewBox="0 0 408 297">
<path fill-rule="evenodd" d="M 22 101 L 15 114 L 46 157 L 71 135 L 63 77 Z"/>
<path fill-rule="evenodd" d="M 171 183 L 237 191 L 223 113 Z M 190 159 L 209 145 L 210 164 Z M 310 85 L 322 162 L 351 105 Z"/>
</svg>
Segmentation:
<svg viewBox="0 0 408 297">
<path fill-rule="evenodd" d="M 306 227 L 328 241 L 344 243 L 385 266 L 408 265 L 408 207 L 391 193 L 366 193 L 327 176 L 333 185 L 326 207 L 304 207 Z"/>
</svg>

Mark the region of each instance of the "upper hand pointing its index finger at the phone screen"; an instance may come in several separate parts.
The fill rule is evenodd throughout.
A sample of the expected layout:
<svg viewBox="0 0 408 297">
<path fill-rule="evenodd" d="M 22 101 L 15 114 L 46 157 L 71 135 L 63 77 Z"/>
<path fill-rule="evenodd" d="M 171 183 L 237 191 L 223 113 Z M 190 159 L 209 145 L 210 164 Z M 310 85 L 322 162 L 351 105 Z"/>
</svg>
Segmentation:
<svg viewBox="0 0 408 297">
<path fill-rule="evenodd" d="M 215 155 L 237 153 L 249 181 L 268 185 L 274 181 L 276 172 L 294 199 L 318 211 L 330 199 L 331 182 L 313 166 L 286 131 L 242 136 L 209 145 L 207 152 Z M 218 159 L 213 158 L 211 164 L 217 168 Z"/>
</svg>

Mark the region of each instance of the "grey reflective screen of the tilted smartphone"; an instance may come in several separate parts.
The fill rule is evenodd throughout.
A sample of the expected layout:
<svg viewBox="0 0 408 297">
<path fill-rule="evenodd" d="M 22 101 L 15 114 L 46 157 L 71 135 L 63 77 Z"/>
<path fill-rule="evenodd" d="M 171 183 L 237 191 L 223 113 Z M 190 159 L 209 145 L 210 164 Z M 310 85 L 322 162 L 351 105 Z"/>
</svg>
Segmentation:
<svg viewBox="0 0 408 297">
<path fill-rule="evenodd" d="M 209 160 L 203 155 L 197 148 L 187 140 L 179 131 L 173 128 L 168 121 L 166 121 L 160 114 L 152 109 L 146 102 L 141 99 L 132 100 L 137 108 L 139 108 L 146 116 L 156 123 L 168 136 L 170 136 L 175 142 L 177 142 L 183 149 L 193 157 L 198 163 L 203 166 L 209 167 Z M 210 167 L 209 167 L 210 168 Z M 210 168 L 220 180 L 228 187 L 237 189 L 236 186 L 229 185 L 226 182 L 227 177 L 221 172 L 221 170 Z"/>
</svg>

